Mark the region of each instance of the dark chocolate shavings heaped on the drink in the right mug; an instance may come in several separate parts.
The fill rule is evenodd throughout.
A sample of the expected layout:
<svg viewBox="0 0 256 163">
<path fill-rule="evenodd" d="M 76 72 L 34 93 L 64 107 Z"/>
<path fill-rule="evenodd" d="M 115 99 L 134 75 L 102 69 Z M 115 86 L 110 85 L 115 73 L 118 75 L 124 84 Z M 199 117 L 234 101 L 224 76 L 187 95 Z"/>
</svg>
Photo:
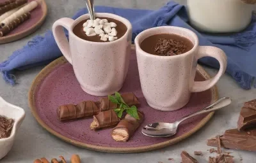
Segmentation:
<svg viewBox="0 0 256 163">
<path fill-rule="evenodd" d="M 186 51 L 187 46 L 182 41 L 175 39 L 158 39 L 154 52 L 161 56 L 179 55 Z"/>
</svg>

